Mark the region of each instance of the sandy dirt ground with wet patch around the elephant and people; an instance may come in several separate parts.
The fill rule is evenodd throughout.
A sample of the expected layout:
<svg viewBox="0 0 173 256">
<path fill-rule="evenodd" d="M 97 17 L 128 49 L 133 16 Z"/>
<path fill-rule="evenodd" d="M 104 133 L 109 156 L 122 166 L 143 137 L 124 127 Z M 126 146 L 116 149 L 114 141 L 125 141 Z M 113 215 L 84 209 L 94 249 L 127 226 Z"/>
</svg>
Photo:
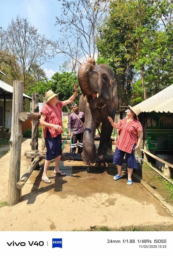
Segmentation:
<svg viewBox="0 0 173 256">
<path fill-rule="evenodd" d="M 31 139 L 23 139 L 20 177 L 27 173 L 31 159 Z M 41 150 L 41 139 L 39 150 Z M 0 149 L 0 202 L 8 201 L 9 146 Z M 63 152 L 69 152 L 67 141 Z M 5 153 L 5 154 L 4 154 Z M 117 231 L 173 231 L 173 205 L 157 192 L 149 173 L 127 186 L 127 175 L 114 181 L 115 166 L 92 168 L 81 161 L 61 161 L 62 177 L 53 174 L 54 160 L 48 170 L 51 184 L 40 180 L 44 160 L 33 170 L 22 188 L 22 200 L 14 206 L 0 208 L 0 231 L 85 231 L 107 227 Z M 156 174 L 152 174 L 155 176 Z M 161 191 L 161 189 L 160 189 Z M 164 191 L 165 192 L 165 191 Z"/>
</svg>

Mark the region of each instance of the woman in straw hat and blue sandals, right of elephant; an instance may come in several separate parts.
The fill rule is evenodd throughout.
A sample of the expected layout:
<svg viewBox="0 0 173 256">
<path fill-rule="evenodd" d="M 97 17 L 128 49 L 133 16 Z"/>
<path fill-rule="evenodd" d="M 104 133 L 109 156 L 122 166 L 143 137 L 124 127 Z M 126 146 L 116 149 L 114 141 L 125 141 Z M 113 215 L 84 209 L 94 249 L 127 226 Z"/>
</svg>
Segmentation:
<svg viewBox="0 0 173 256">
<path fill-rule="evenodd" d="M 140 112 L 141 110 L 138 107 L 128 106 L 126 118 L 120 120 L 117 124 L 113 122 L 111 117 L 108 117 L 113 128 L 119 129 L 119 137 L 116 140 L 116 149 L 113 157 L 113 164 L 116 164 L 118 174 L 116 174 L 113 179 L 117 181 L 122 178 L 121 167 L 123 158 L 126 154 L 125 159 L 128 171 L 127 185 L 133 184 L 131 175 L 133 169 L 138 168 L 135 152 L 140 146 L 143 138 L 142 125 L 137 117 Z"/>
</svg>

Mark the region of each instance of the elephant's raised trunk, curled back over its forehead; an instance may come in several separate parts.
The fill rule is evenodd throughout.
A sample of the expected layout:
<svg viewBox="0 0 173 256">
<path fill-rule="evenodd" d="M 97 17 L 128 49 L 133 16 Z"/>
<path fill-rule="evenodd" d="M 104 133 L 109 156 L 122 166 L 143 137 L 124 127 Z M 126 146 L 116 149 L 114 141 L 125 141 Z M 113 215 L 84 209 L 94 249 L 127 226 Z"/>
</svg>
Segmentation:
<svg viewBox="0 0 173 256">
<path fill-rule="evenodd" d="M 81 66 L 78 69 L 79 86 L 84 96 L 90 95 L 93 93 L 90 88 L 89 74 L 95 69 L 95 67 L 96 67 L 95 59 L 89 58 L 87 63 L 81 64 Z"/>
</svg>

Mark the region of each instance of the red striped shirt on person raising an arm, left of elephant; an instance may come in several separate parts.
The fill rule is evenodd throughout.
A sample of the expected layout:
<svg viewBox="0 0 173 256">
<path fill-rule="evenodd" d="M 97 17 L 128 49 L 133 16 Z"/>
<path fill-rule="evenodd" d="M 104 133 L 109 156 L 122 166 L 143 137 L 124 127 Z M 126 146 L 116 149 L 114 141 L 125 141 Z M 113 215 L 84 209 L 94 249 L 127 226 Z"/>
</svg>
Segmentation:
<svg viewBox="0 0 173 256">
<path fill-rule="evenodd" d="M 53 107 L 49 103 L 43 106 L 41 113 L 46 115 L 45 122 L 50 124 L 58 124 L 62 126 L 62 104 L 63 104 L 62 101 L 58 101 L 55 107 Z M 44 127 L 43 129 L 44 129 L 45 138 L 46 138 L 47 129 L 49 130 L 52 138 L 62 133 L 60 131 L 57 131 L 53 127 Z"/>
</svg>

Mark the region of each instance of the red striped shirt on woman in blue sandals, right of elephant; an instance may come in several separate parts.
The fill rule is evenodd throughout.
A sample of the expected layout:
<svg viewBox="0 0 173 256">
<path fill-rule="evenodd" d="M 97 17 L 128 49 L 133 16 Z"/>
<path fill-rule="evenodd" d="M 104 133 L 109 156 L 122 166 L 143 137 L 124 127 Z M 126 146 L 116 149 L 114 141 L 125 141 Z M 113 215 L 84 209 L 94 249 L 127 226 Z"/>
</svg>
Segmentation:
<svg viewBox="0 0 173 256">
<path fill-rule="evenodd" d="M 137 145 L 138 134 L 137 132 L 142 131 L 141 123 L 134 119 L 127 122 L 128 118 L 120 120 L 116 127 L 119 129 L 119 137 L 116 141 L 116 147 L 127 153 L 131 153 L 134 144 Z"/>
</svg>

